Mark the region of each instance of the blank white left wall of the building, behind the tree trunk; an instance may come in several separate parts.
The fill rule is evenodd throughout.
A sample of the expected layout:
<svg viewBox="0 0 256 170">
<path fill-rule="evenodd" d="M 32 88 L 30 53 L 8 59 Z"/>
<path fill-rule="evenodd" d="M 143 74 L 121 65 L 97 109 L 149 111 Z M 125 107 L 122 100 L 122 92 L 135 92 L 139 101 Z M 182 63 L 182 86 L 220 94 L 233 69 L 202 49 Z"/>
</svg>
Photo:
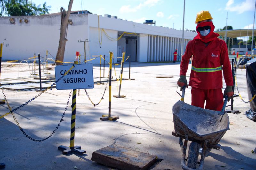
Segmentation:
<svg viewBox="0 0 256 170">
<path fill-rule="evenodd" d="M 0 41 L 4 42 L 3 60 L 24 60 L 36 56 L 46 56 L 46 50 L 55 58 L 60 38 L 60 15 L 49 16 L 17 16 L 15 24 L 11 24 L 11 17 L 0 17 Z M 22 19 L 23 22 L 19 23 Z M 24 22 L 28 19 L 28 23 Z M 64 61 L 74 61 L 75 52 L 84 54 L 84 43 L 78 43 L 88 38 L 87 17 L 83 14 L 71 15 L 73 24 L 68 25 L 68 33 Z M 50 55 L 51 54 L 51 55 Z"/>
</svg>

